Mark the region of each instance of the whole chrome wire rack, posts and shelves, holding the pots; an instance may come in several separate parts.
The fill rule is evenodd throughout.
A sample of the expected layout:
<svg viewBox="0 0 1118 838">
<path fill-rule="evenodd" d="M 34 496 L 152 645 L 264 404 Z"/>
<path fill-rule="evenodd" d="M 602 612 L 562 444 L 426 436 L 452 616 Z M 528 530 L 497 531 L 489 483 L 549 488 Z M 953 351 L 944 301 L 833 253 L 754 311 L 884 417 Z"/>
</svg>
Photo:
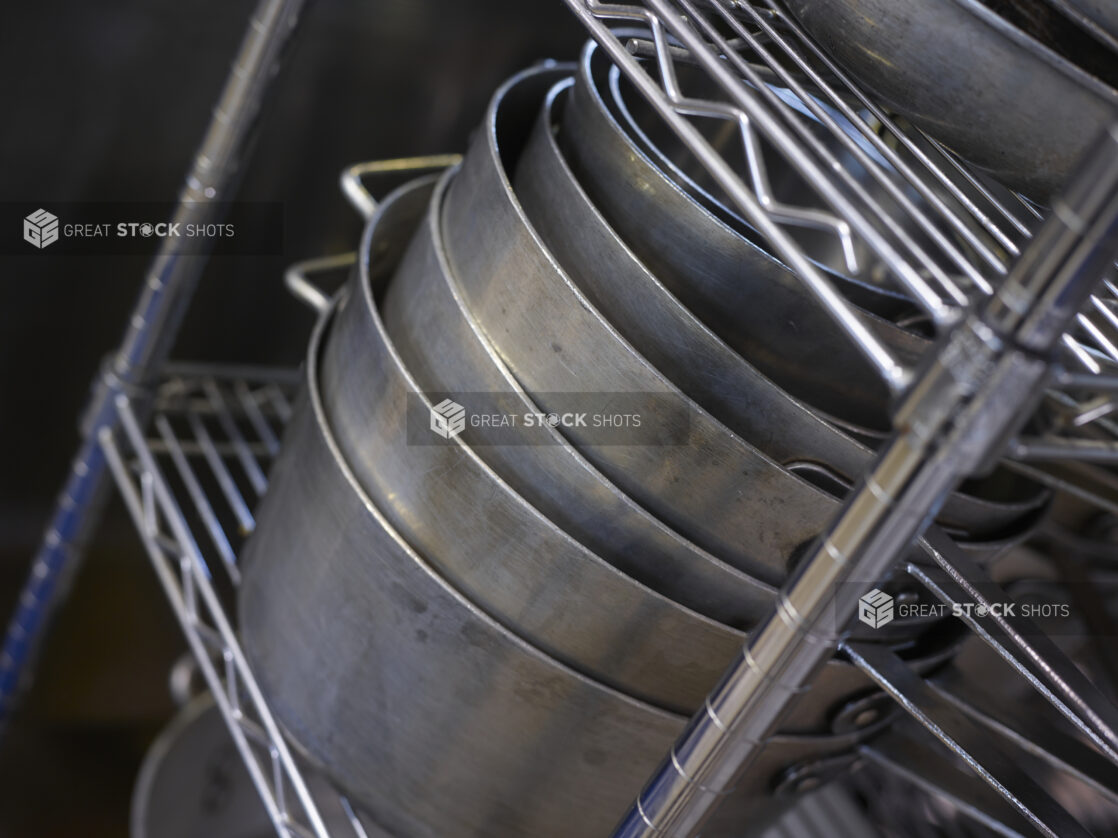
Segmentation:
<svg viewBox="0 0 1118 838">
<path fill-rule="evenodd" d="M 1118 206 L 1112 194 L 1092 190 L 1118 182 L 1118 146 L 1100 152 L 1089 178 L 1040 226 L 1034 207 L 1002 194 L 875 106 L 777 0 L 565 1 L 737 211 L 870 360 L 900 404 L 897 426 L 903 432 L 884 448 L 818 549 L 799 565 L 773 616 L 617 832 L 626 838 L 691 834 L 718 792 L 762 746 L 786 695 L 807 683 L 818 663 L 843 642 L 833 626 L 824 626 L 823 615 L 833 620 L 827 609 L 835 608 L 841 623 L 851 616 L 853 601 L 845 597 L 836 598 L 842 600 L 837 604 L 825 602 L 824 593 L 851 578 L 875 581 L 920 534 L 954 482 L 1006 448 L 1014 457 L 1039 464 L 1089 467 L 1118 459 L 1118 426 L 1109 418 L 1118 392 L 1118 286 L 1106 283 L 1096 289 L 1096 278 L 1114 258 L 1108 248 L 1118 247 Z M 210 204 L 227 199 L 234 189 L 252 126 L 301 7 L 301 0 L 262 0 L 188 175 L 179 209 L 183 218 L 205 218 Z M 606 21 L 639 23 L 648 37 L 623 41 Z M 679 84 L 679 60 L 701 67 L 722 95 L 689 97 Z M 806 113 L 780 99 L 777 87 L 798 97 Z M 697 120 L 708 118 L 738 126 L 743 168 L 736 170 L 705 140 Z M 821 126 L 884 198 L 871 194 L 840 165 L 813 133 Z M 1118 134 L 1111 144 L 1118 144 Z M 793 207 L 775 198 L 765 161 L 774 149 L 804 177 L 817 204 Z M 920 204 L 909 190 L 920 196 Z M 918 241 L 900 220 L 927 241 Z M 836 236 L 852 274 L 866 268 L 855 244 L 874 254 L 944 335 L 936 356 L 920 368 L 894 358 L 797 241 L 795 228 L 800 227 Z M 1030 239 L 1038 246 L 1029 247 Z M 1057 253 L 1062 259 L 1045 261 L 1038 258 L 1041 253 Z M 217 581 L 237 582 L 236 543 L 253 524 L 252 503 L 239 486 L 256 496 L 265 489 L 262 463 L 278 448 L 268 410 L 275 413 L 272 419 L 283 418 L 287 378 L 264 370 L 164 368 L 201 261 L 160 253 L 121 350 L 98 382 L 84 445 L 0 655 L 0 722 L 97 518 L 111 474 L 277 834 L 326 838 L 303 766 L 240 650 Z M 1069 301 L 1074 305 L 1069 307 Z M 1086 305 L 1082 311 L 1080 303 Z M 1038 313 L 1044 316 L 1032 316 Z M 1067 370 L 1052 361 L 1058 345 L 1064 350 Z M 146 387 L 152 380 L 158 384 Z M 1061 390 L 1051 392 L 1049 400 L 1059 408 L 1061 422 L 1044 436 L 1017 437 L 1020 417 L 999 400 L 1016 400 L 1012 404 L 1020 412 L 1018 403 L 1034 401 L 1042 388 L 1053 384 Z M 268 407 L 262 398 L 273 403 Z M 192 440 L 176 430 L 182 422 Z M 154 432 L 145 435 L 149 426 Z M 1023 468 L 1069 485 L 1065 474 L 1053 475 L 1043 465 Z M 216 487 L 212 494 L 203 489 L 206 480 Z M 1100 496 L 1084 482 L 1070 486 L 1102 508 L 1118 508 L 1114 495 Z M 199 546 L 196 532 L 205 533 L 209 549 Z M 949 545 L 926 549 L 932 570 L 910 572 L 938 587 L 945 599 L 993 601 L 1002 596 L 973 569 L 960 569 Z M 214 556 L 218 563 L 207 561 Z M 1022 636 L 1020 623 L 999 623 L 995 634 L 993 645 L 1003 656 L 1108 756 L 1118 756 L 1118 713 L 1086 679 L 1076 678 L 1069 661 Z M 937 726 L 926 713 L 930 699 L 920 684 L 906 683 L 903 668 L 872 650 L 845 648 L 918 721 Z M 954 730 L 966 732 L 966 725 Z M 1030 801 L 1030 787 L 988 771 L 986 760 L 972 754 L 969 734 L 960 741 L 942 726 L 939 733 L 1042 834 L 1078 834 L 1059 811 Z M 353 834 L 364 836 L 348 801 L 340 803 Z"/>
</svg>

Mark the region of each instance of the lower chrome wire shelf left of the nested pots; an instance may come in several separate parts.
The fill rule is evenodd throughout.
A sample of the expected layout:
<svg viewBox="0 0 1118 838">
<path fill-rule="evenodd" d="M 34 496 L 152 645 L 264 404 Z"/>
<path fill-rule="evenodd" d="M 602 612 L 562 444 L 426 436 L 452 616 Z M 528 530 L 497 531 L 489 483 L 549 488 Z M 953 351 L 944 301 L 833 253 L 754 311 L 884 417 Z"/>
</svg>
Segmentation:
<svg viewBox="0 0 1118 838">
<path fill-rule="evenodd" d="M 375 838 L 344 797 L 309 787 L 311 769 L 276 724 L 230 617 L 237 550 L 297 381 L 288 370 L 169 365 L 151 393 L 116 397 L 117 430 L 97 441 L 277 835 Z"/>
</svg>

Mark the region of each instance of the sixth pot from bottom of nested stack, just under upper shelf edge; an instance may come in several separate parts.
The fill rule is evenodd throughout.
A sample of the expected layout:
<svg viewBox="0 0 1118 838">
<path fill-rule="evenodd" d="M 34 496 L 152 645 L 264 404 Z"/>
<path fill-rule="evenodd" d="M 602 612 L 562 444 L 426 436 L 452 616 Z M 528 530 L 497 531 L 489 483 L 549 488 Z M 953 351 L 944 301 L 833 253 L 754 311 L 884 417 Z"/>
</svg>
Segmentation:
<svg viewBox="0 0 1118 838">
<path fill-rule="evenodd" d="M 617 122 L 605 98 L 610 67 L 588 44 L 559 125 L 563 155 L 603 217 L 680 302 L 779 387 L 887 430 L 884 383 L 798 278 L 667 177 Z M 863 316 L 899 358 L 926 349 L 917 335 Z"/>
</svg>

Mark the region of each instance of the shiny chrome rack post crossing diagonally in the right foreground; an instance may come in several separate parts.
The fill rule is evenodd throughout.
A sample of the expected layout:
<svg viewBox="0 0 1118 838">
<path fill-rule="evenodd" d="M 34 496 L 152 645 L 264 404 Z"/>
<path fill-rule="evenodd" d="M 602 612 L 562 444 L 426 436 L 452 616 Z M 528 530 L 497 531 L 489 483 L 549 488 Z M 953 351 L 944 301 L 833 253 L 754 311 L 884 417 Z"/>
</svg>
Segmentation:
<svg viewBox="0 0 1118 838">
<path fill-rule="evenodd" d="M 700 831 L 722 794 L 733 789 L 762 752 L 788 698 L 811 683 L 842 641 L 840 627 L 860 609 L 858 583 L 864 590 L 888 572 L 889 558 L 927 530 L 929 511 L 938 507 L 961 472 L 997 453 L 1027 421 L 1021 406 L 1041 399 L 1048 353 L 1118 256 L 1118 125 L 1080 163 L 1061 201 L 1061 211 L 1045 220 L 1006 283 L 950 332 L 946 347 L 921 372 L 898 412 L 898 432 L 811 559 L 781 590 L 777 607 L 708 697 L 703 712 L 692 716 L 684 735 L 661 761 L 615 830 L 618 838 Z M 965 366 L 956 365 L 959 358 L 967 359 Z M 957 423 L 959 411 L 970 422 Z M 935 501 L 929 502 L 930 497 Z M 935 541 L 932 536 L 934 546 Z M 935 559 L 949 569 L 949 560 Z M 996 585 L 963 582 L 980 572 L 954 570 L 968 593 L 986 606 L 991 623 L 1029 655 L 1036 670 L 1030 673 L 1031 684 L 1045 697 L 1054 693 L 1053 703 L 1065 703 L 1070 718 L 1118 762 L 1118 707 L 1099 694 L 1048 635 L 1032 630 L 1020 616 L 992 610 L 988 606 L 994 598 L 986 591 L 996 591 Z M 974 628 L 989 642 L 987 632 Z M 889 659 L 888 651 L 880 647 L 875 651 L 875 657 Z M 860 651 L 847 649 L 847 654 L 866 672 L 880 673 L 878 666 L 863 663 Z M 900 670 L 918 689 L 923 688 L 920 679 L 903 667 Z M 994 746 L 982 739 L 973 752 L 960 746 L 951 716 L 940 725 L 912 701 L 912 691 L 891 677 L 874 677 L 1042 835 L 1088 835 L 1027 777 L 1018 780 L 1017 765 L 1008 763 L 1011 777 L 1002 773 L 1001 765 L 993 768 L 1004 762 Z"/>
</svg>

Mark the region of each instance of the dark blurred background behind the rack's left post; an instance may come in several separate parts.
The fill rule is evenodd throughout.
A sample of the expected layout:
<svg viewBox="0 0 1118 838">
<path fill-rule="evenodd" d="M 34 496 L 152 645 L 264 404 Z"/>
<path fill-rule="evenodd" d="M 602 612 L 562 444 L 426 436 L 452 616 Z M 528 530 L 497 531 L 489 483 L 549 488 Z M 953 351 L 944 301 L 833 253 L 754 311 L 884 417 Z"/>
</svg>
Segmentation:
<svg viewBox="0 0 1118 838">
<path fill-rule="evenodd" d="M 40 0 L 0 12 L 0 200 L 163 201 L 179 190 L 253 0 Z M 216 257 L 174 353 L 297 363 L 309 315 L 285 264 L 352 249 L 338 173 L 462 151 L 485 101 L 541 58 L 572 58 L 561 0 L 319 0 L 262 125 L 240 198 L 282 201 L 283 256 Z M 0 257 L 0 619 L 77 446 L 89 382 L 146 259 Z M 184 647 L 114 501 L 0 739 L 0 837 L 123 836 L 132 781 L 173 707 Z"/>
</svg>

